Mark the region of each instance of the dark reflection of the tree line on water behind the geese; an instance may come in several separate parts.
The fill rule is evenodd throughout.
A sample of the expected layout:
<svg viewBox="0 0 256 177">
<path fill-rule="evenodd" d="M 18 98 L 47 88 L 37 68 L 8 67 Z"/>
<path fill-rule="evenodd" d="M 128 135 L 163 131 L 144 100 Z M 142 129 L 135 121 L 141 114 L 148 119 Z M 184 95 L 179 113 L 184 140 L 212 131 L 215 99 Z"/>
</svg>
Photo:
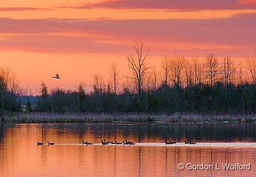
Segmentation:
<svg viewBox="0 0 256 177">
<path fill-rule="evenodd" d="M 234 142 L 234 141 L 256 141 L 256 125 L 175 125 L 175 124 L 70 124 L 35 125 L 41 131 L 41 138 L 47 136 L 47 132 L 56 133 L 58 136 L 69 134 L 78 135 L 79 138 L 94 137 L 93 140 L 100 141 L 103 137 L 121 140 L 132 138 L 132 140 L 143 142 L 158 142 L 165 139 L 183 141 L 191 139 L 204 142 Z M 43 139 L 41 139 L 43 140 Z"/>
</svg>

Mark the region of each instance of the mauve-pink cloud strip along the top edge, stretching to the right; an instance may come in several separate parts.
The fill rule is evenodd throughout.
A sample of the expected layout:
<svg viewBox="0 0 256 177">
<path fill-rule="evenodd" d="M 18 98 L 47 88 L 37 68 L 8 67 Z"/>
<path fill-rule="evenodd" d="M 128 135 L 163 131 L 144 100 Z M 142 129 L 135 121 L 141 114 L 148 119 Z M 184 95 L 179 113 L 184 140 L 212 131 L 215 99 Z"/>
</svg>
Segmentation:
<svg viewBox="0 0 256 177">
<path fill-rule="evenodd" d="M 249 2 L 249 3 L 248 3 Z M 106 0 L 99 3 L 86 3 L 78 6 L 60 8 L 110 8 L 110 9 L 167 9 L 195 11 L 203 9 L 255 9 L 254 0 Z"/>
</svg>

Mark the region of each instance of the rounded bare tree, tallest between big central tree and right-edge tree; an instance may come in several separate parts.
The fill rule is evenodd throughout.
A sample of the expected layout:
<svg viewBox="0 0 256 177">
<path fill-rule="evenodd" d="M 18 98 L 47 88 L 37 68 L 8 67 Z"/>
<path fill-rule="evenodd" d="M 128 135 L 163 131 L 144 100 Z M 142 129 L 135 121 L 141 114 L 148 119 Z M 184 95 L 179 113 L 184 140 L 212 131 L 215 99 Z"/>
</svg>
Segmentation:
<svg viewBox="0 0 256 177">
<path fill-rule="evenodd" d="M 204 67 L 206 77 L 209 79 L 210 85 L 213 86 L 219 74 L 218 58 L 214 54 L 208 53 L 206 55 Z"/>
</svg>

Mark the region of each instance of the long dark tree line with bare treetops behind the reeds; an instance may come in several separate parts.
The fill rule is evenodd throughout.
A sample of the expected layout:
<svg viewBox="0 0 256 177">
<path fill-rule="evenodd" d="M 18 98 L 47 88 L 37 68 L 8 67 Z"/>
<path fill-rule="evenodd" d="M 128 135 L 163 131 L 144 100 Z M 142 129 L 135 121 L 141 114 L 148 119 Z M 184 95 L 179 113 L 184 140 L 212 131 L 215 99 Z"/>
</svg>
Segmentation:
<svg viewBox="0 0 256 177">
<path fill-rule="evenodd" d="M 83 82 L 74 91 L 59 87 L 49 91 L 42 81 L 37 103 L 28 102 L 26 110 L 168 114 L 256 112 L 255 51 L 239 62 L 230 56 L 219 59 L 211 52 L 204 58 L 166 55 L 157 68 L 147 64 L 149 50 L 144 49 L 143 43 L 135 43 L 133 47 L 134 53 L 127 55 L 128 74 L 122 74 L 113 63 L 107 82 L 102 75 L 94 74 L 89 91 Z M 12 93 L 9 88 L 7 91 Z"/>
</svg>

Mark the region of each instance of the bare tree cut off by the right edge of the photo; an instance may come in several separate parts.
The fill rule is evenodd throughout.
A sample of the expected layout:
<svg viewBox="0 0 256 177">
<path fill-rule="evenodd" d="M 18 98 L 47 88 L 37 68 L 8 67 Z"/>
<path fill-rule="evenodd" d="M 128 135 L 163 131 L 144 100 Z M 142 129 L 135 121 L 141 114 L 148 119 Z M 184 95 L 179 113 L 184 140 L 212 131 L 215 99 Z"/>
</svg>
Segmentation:
<svg viewBox="0 0 256 177">
<path fill-rule="evenodd" d="M 246 56 L 246 68 L 249 70 L 251 76 L 251 83 L 255 84 L 256 79 L 256 52 L 254 52 L 251 56 Z"/>
</svg>

